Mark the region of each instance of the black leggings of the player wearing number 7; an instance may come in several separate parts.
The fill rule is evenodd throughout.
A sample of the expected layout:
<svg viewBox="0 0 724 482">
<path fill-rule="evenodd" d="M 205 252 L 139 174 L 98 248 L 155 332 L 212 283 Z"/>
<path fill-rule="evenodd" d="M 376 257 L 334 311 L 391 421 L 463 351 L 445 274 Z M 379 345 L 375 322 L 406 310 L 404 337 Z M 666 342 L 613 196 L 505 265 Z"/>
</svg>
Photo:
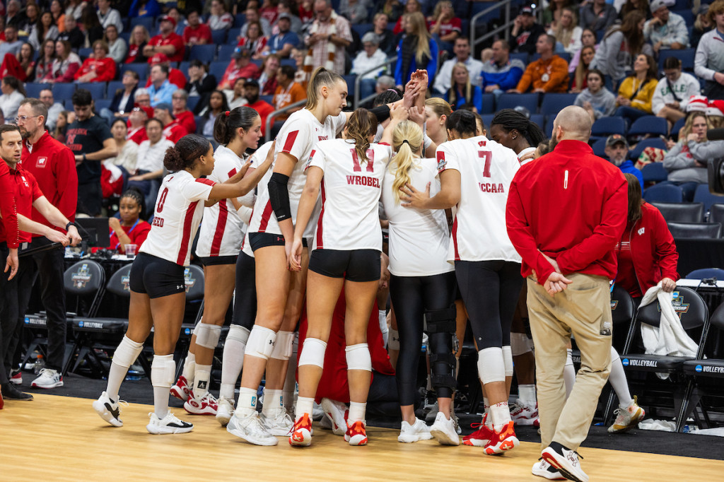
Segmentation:
<svg viewBox="0 0 724 482">
<path fill-rule="evenodd" d="M 523 287 L 521 263 L 455 261 L 455 276 L 478 350 L 510 345 L 510 324 Z"/>
</svg>

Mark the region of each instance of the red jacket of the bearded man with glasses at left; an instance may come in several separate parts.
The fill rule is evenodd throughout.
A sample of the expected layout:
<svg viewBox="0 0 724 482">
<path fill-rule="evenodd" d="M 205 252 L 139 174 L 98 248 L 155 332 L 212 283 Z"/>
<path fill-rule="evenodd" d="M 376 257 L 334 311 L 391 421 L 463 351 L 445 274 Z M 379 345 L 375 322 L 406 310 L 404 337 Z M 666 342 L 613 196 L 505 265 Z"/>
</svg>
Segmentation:
<svg viewBox="0 0 724 482">
<path fill-rule="evenodd" d="M 75 171 L 75 156 L 66 145 L 59 143 L 46 131 L 33 145 L 22 144 L 22 168 L 38 180 L 43 195 L 50 203 L 73 221 L 78 201 L 78 175 Z M 41 213 L 33 208 L 33 221 L 56 229 Z M 39 234 L 33 234 L 38 237 Z"/>
</svg>

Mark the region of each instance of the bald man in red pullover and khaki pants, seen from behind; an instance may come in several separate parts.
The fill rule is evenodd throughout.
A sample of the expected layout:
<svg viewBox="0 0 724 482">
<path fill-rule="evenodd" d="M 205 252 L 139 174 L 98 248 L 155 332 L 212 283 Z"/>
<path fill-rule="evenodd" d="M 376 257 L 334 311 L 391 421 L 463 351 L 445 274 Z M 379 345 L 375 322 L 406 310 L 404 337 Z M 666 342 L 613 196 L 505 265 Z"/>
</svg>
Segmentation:
<svg viewBox="0 0 724 482">
<path fill-rule="evenodd" d="M 523 258 L 536 347 L 543 460 L 533 473 L 573 481 L 589 480 L 576 451 L 610 371 L 609 282 L 628 209 L 626 179 L 594 156 L 590 135 L 584 109 L 560 111 L 552 151 L 515 174 L 506 216 L 510 241 Z M 566 400 L 563 366 L 571 334 L 581 350 L 581 369 Z"/>
</svg>

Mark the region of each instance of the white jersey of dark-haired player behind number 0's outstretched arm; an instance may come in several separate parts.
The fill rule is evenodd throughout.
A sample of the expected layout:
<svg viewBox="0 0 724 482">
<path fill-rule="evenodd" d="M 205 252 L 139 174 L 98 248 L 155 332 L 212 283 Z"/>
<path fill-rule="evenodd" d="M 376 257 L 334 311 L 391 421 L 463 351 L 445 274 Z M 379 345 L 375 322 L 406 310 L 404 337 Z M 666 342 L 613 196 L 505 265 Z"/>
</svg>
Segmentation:
<svg viewBox="0 0 724 482">
<path fill-rule="evenodd" d="M 230 148 L 219 145 L 214 153 L 214 172 L 208 176 L 214 182 L 226 182 L 240 171 L 244 161 Z M 203 211 L 203 223 L 198 234 L 196 255 L 201 258 L 236 256 L 244 240 L 245 224 L 233 203 L 219 200 Z"/>
</svg>

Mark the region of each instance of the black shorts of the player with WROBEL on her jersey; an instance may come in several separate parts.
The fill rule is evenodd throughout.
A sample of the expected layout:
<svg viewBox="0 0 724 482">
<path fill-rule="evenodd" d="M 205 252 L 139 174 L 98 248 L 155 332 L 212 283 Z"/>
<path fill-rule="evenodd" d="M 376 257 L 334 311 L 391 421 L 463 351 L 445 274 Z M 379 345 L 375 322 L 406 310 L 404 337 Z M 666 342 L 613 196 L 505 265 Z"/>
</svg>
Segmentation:
<svg viewBox="0 0 724 482">
<path fill-rule="evenodd" d="M 351 282 L 379 281 L 378 250 L 313 250 L 309 269 L 330 278 L 345 278 Z"/>
</svg>

